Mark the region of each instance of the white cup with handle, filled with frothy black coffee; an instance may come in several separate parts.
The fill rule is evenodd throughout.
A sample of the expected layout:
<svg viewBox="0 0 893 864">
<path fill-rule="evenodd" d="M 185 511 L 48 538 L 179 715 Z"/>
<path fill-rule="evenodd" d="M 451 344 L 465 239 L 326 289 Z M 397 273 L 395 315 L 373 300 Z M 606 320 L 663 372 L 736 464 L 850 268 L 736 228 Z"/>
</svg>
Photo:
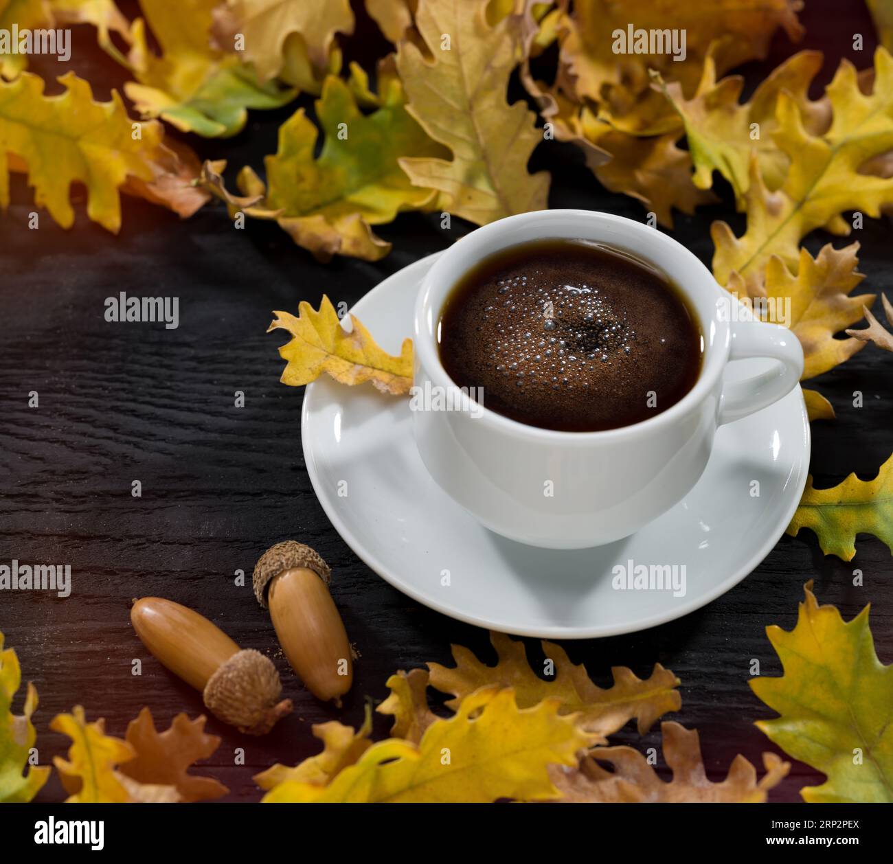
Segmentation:
<svg viewBox="0 0 893 864">
<path fill-rule="evenodd" d="M 697 483 L 717 428 L 797 386 L 797 337 L 730 315 L 735 302 L 685 246 L 610 213 L 472 231 L 422 281 L 413 384 L 481 387 L 483 404 L 413 411 L 421 461 L 513 540 L 575 549 L 632 534 Z M 747 358 L 766 360 L 727 380 Z"/>
</svg>

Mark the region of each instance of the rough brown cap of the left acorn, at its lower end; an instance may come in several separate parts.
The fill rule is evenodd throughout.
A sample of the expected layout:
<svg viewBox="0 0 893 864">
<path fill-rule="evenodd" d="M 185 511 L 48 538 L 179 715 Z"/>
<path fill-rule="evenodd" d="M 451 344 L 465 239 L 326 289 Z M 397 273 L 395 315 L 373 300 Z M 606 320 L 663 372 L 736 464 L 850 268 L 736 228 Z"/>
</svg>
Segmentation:
<svg viewBox="0 0 893 864">
<path fill-rule="evenodd" d="M 217 719 L 246 735 L 266 735 L 277 720 L 291 713 L 291 700 L 277 702 L 279 672 L 269 657 L 248 649 L 235 653 L 204 685 L 205 707 Z"/>
</svg>

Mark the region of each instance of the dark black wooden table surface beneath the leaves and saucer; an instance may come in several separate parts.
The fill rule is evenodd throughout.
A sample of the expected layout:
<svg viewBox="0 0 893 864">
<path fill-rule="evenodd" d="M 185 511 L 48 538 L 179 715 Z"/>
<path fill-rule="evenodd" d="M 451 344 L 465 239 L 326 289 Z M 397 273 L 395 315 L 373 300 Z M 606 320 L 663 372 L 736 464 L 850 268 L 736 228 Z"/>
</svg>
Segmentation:
<svg viewBox="0 0 893 864">
<path fill-rule="evenodd" d="M 807 3 L 802 46 L 826 50 L 826 71 L 843 55 L 860 68 L 870 62 L 871 24 L 861 5 L 852 6 L 844 26 L 839 12 L 832 12 L 835 4 Z M 852 32 L 865 34 L 861 55 L 851 50 Z M 791 50 L 787 38 L 777 36 L 772 57 L 745 70 L 749 86 Z M 117 80 L 111 63 L 101 57 L 90 63 L 96 73 L 91 79 Z M 97 90 L 102 94 L 103 87 Z M 227 142 L 192 143 L 203 155 L 226 156 L 234 167 L 250 162 L 261 168 L 289 111 L 255 112 L 246 132 Z M 567 145 L 541 146 L 534 167 L 553 170 L 553 207 L 642 218 L 637 203 L 599 187 Z M 712 254 L 712 220 L 742 228 L 728 188 L 723 201 L 694 218 L 678 216 L 672 232 L 704 262 Z M 436 216 L 404 215 L 380 230 L 394 242 L 384 261 L 338 259 L 323 266 L 275 226 L 249 223 L 235 230 L 219 207 L 180 223 L 171 213 L 126 199 L 119 237 L 88 223 L 82 206 L 71 232 L 46 214 L 38 230 L 29 230 L 32 209 L 29 190 L 15 178 L 13 206 L 0 220 L 0 561 L 70 563 L 73 590 L 67 599 L 0 594 L 0 629 L 18 652 L 24 677 L 38 686 L 41 763 L 64 752 L 67 740 L 48 724 L 75 704 L 86 706 L 89 719 L 104 717 L 115 735 L 123 735 L 143 705 L 165 727 L 181 710 L 201 712 L 198 694 L 134 636 L 129 605 L 137 596 L 186 603 L 242 646 L 270 654 L 295 701 L 294 715 L 260 739 L 209 722 L 223 740 L 207 770 L 230 786 L 230 801 L 260 798 L 252 782 L 259 769 L 317 752 L 311 724 L 359 724 L 365 699 L 382 699 L 385 680 L 396 669 L 448 661 L 450 643 L 491 657 L 484 631 L 388 586 L 330 526 L 302 457 L 303 391 L 279 383 L 276 348 L 283 336 L 264 333 L 271 310 L 294 310 L 300 299 L 315 305 L 323 293 L 354 303 L 381 278 L 445 248 L 471 226 L 454 220 L 453 229 L 443 231 Z M 866 221 L 854 238 L 862 243 L 864 290 L 891 293 L 889 220 Z M 806 245 L 816 253 L 829 239 L 817 234 Z M 178 296 L 179 328 L 107 323 L 104 299 L 120 291 Z M 815 382 L 838 412 L 836 421 L 813 426 L 818 485 L 837 483 L 854 470 L 871 478 L 889 456 L 891 370 L 893 357 L 869 346 Z M 31 390 L 39 394 L 37 409 L 28 407 Z M 236 390 L 245 393 L 244 408 L 234 407 Z M 852 406 L 855 390 L 864 392 L 863 408 Z M 140 498 L 130 494 L 135 479 L 142 484 Z M 260 552 L 288 537 L 313 545 L 330 561 L 332 593 L 363 654 L 343 710 L 321 705 L 301 688 L 250 586 L 234 585 L 237 569 L 250 574 Z M 852 584 L 855 568 L 864 572 L 864 587 Z M 600 685 L 610 682 L 614 665 L 630 666 L 640 676 L 655 661 L 675 671 L 682 708 L 674 719 L 700 730 L 705 763 L 717 779 L 736 753 L 761 765 L 760 753 L 773 749 L 753 725 L 772 712 L 751 694 L 748 670 L 758 659 L 764 674 L 779 674 L 764 627 L 793 626 L 809 578 L 820 601 L 837 604 L 847 619 L 872 602 L 878 652 L 883 660 L 893 658 L 889 550 L 863 536 L 855 561 L 826 559 L 808 532 L 783 537 L 753 574 L 701 611 L 642 633 L 565 647 Z M 541 656 L 535 640 L 528 646 L 532 657 Z M 143 660 L 142 677 L 131 675 L 135 658 Z M 388 719 L 377 717 L 377 735 L 387 730 Z M 658 749 L 659 737 L 655 728 L 640 741 L 631 727 L 616 736 L 619 743 Z M 245 748 L 246 765 L 237 767 L 238 747 Z M 795 764 L 772 798 L 797 801 L 801 786 L 819 780 Z M 62 797 L 54 776 L 40 800 Z"/>
</svg>

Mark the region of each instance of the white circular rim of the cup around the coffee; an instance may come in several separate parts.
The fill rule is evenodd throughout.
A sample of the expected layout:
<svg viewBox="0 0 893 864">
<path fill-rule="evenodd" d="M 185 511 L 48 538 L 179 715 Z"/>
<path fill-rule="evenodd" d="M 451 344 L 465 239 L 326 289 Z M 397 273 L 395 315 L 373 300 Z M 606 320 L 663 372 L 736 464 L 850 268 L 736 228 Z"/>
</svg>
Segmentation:
<svg viewBox="0 0 893 864">
<path fill-rule="evenodd" d="M 475 403 L 479 406 L 481 414 L 478 420 L 480 422 L 489 422 L 494 424 L 502 431 L 515 437 L 535 438 L 542 442 L 552 442 L 555 444 L 592 444 L 595 442 L 610 442 L 621 438 L 630 438 L 648 435 L 651 432 L 658 431 L 672 425 L 675 420 L 692 411 L 701 403 L 707 395 L 711 393 L 714 386 L 722 375 L 722 370 L 726 365 L 730 348 L 730 324 L 722 317 L 716 314 L 714 308 L 710 315 L 705 314 L 705 304 L 698 302 L 698 297 L 692 295 L 689 290 L 691 281 L 700 283 L 705 292 L 709 291 L 716 297 L 722 296 L 722 288 L 716 283 L 713 274 L 707 270 L 705 265 L 700 262 L 697 256 L 685 246 L 681 245 L 678 240 L 663 234 L 657 228 L 649 228 L 641 222 L 628 219 L 624 216 L 617 216 L 613 213 L 606 213 L 593 210 L 575 210 L 575 209 L 558 209 L 558 210 L 540 210 L 526 213 L 519 213 L 514 216 L 507 216 L 505 219 L 490 222 L 480 228 L 476 228 L 464 237 L 461 237 L 452 246 L 441 253 L 431 269 L 421 281 L 419 293 L 416 297 L 415 312 L 413 316 L 414 329 L 414 354 L 417 362 L 427 373 L 433 385 L 447 387 L 456 387 L 458 385 L 450 378 L 447 370 L 440 361 L 440 355 L 437 345 L 436 326 L 435 328 L 426 327 L 426 320 L 433 313 L 437 313 L 438 317 L 442 310 L 442 305 L 446 299 L 446 295 L 458 277 L 447 278 L 446 273 L 455 267 L 455 262 L 461 260 L 463 253 L 472 245 L 478 245 L 488 237 L 496 239 L 511 228 L 517 228 L 525 223 L 538 220 L 554 220 L 557 217 L 565 217 L 572 219 L 588 220 L 590 223 L 596 221 L 602 228 L 613 227 L 622 228 L 624 232 L 631 232 L 632 235 L 640 237 L 643 241 L 647 240 L 647 245 L 663 245 L 667 254 L 674 255 L 680 261 L 682 266 L 688 265 L 692 272 L 686 279 L 685 284 L 679 285 L 697 313 L 698 323 L 701 328 L 701 336 L 704 342 L 704 352 L 701 361 L 701 371 L 689 392 L 684 395 L 679 402 L 670 406 L 666 411 L 661 411 L 655 417 L 649 417 L 646 420 L 639 420 L 638 423 L 632 423 L 629 426 L 622 426 L 613 429 L 597 429 L 587 432 L 568 431 L 564 429 L 547 429 L 538 426 L 530 426 L 522 423 L 520 420 L 513 420 L 493 411 L 486 404 Z M 647 232 L 647 233 L 644 233 Z M 549 238 L 543 235 L 543 239 Z M 570 235 L 567 233 L 555 234 L 556 239 L 576 240 L 580 239 L 580 235 Z M 605 242 L 605 245 L 613 245 L 615 248 L 624 248 L 622 243 L 613 242 L 611 239 L 595 242 Z M 475 262 L 480 261 L 489 255 L 496 254 L 502 249 L 510 248 L 512 245 L 522 245 L 527 241 L 515 242 L 495 242 L 492 248 L 484 255 L 475 257 Z M 627 248 L 627 251 L 638 255 L 647 262 L 651 262 L 651 258 L 647 253 L 642 253 L 637 249 Z M 660 270 L 665 268 L 656 264 Z M 459 270 L 466 270 L 461 267 Z M 432 292 L 438 288 L 439 284 L 449 281 L 449 287 L 443 296 L 440 297 L 438 309 L 432 310 Z M 677 280 L 678 281 L 678 280 Z"/>
</svg>

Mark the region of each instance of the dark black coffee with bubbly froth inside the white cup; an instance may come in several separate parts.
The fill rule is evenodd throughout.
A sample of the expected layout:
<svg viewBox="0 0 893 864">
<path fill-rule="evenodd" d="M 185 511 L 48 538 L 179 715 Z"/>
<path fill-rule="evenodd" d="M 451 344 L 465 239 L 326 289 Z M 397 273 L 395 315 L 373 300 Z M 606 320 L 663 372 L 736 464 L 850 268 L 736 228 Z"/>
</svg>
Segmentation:
<svg viewBox="0 0 893 864">
<path fill-rule="evenodd" d="M 459 282 L 441 314 L 440 360 L 485 407 L 530 426 L 630 426 L 697 380 L 697 319 L 662 273 L 586 241 L 506 249 Z"/>
</svg>

